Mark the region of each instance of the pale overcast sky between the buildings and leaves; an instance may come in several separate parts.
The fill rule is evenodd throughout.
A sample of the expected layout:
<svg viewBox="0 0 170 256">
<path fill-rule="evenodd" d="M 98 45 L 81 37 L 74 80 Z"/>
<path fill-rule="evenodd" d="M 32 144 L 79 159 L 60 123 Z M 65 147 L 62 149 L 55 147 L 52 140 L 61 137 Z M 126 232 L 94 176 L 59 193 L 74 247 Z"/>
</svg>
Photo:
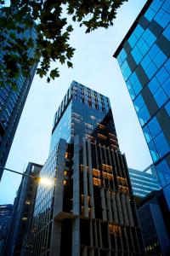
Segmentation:
<svg viewBox="0 0 170 256">
<path fill-rule="evenodd" d="M 129 167 L 144 170 L 151 164 L 139 120 L 116 59 L 112 57 L 146 0 L 129 0 L 119 9 L 115 25 L 85 34 L 75 25 L 71 45 L 76 48 L 74 68 L 60 68 L 60 77 L 50 84 L 35 76 L 15 133 L 6 167 L 23 172 L 29 161 L 44 164 L 48 158 L 54 113 L 72 80 L 109 96 L 122 153 Z M 13 203 L 20 175 L 4 171 L 0 204 Z"/>
</svg>

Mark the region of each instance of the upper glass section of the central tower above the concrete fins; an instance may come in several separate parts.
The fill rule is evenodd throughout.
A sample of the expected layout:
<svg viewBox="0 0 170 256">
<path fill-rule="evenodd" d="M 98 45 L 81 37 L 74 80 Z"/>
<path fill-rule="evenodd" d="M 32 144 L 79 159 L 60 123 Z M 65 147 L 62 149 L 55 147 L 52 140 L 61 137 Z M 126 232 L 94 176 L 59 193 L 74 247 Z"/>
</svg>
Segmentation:
<svg viewBox="0 0 170 256">
<path fill-rule="evenodd" d="M 118 149 L 109 98 L 74 81 L 55 113 L 50 151 L 61 137 L 73 143 L 76 135 Z"/>
</svg>

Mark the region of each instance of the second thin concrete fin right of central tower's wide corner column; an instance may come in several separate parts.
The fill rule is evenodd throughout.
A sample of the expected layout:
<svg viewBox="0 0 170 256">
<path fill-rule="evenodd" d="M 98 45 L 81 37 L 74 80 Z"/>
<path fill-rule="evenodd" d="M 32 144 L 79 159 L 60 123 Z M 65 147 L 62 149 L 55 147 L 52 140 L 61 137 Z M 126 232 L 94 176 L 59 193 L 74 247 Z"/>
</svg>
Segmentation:
<svg viewBox="0 0 170 256">
<path fill-rule="evenodd" d="M 90 206 L 91 206 L 91 218 L 95 218 L 94 213 L 94 183 L 93 183 L 93 173 L 92 173 L 92 154 L 91 154 L 91 144 L 88 141 L 88 183 L 90 192 Z"/>
</svg>

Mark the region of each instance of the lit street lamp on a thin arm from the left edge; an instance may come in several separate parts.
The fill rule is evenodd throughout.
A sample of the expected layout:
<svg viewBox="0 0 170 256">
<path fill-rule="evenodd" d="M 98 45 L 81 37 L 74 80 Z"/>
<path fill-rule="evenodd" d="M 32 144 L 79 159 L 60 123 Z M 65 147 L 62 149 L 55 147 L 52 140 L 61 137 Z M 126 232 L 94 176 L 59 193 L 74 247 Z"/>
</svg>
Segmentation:
<svg viewBox="0 0 170 256">
<path fill-rule="evenodd" d="M 37 183 L 42 184 L 44 187 L 52 187 L 54 185 L 53 180 L 51 178 L 48 178 L 48 177 L 35 177 L 35 176 L 28 175 L 28 174 L 23 173 L 23 172 L 17 172 L 17 171 L 8 169 L 8 168 L 3 167 L 3 166 L 0 166 L 0 169 L 6 170 L 8 172 L 14 172 L 14 173 L 20 174 L 24 177 L 34 178 L 35 180 L 37 180 Z"/>
</svg>

